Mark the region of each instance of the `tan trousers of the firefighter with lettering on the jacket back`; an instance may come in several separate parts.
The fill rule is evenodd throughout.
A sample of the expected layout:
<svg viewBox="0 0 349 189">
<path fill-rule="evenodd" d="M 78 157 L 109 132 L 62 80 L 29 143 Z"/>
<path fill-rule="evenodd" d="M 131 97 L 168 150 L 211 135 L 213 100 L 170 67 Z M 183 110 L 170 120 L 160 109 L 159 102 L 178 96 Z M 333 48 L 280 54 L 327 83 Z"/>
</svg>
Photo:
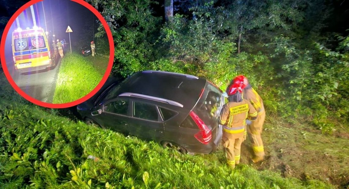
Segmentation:
<svg viewBox="0 0 349 189">
<path fill-rule="evenodd" d="M 227 158 L 227 164 L 234 169 L 240 162 L 241 143 L 244 140 L 244 133 L 227 133 L 223 131 L 222 146 Z"/>
</svg>

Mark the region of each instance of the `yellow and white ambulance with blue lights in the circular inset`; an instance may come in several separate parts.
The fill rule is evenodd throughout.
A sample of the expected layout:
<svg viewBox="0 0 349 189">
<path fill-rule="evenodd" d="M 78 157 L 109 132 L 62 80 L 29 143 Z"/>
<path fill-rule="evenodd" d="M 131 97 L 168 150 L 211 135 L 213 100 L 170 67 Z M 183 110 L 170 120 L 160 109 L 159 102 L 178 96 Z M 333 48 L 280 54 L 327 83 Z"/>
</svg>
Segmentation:
<svg viewBox="0 0 349 189">
<path fill-rule="evenodd" d="M 50 45 L 42 28 L 20 29 L 12 32 L 12 55 L 15 69 L 20 73 L 50 68 Z"/>
</svg>

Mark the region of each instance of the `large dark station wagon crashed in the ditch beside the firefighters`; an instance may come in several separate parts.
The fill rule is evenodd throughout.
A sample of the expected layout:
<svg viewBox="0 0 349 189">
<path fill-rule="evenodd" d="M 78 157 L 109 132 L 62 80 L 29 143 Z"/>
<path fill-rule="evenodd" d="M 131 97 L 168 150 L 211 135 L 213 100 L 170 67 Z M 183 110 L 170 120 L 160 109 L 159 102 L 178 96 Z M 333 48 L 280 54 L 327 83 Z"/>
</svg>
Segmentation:
<svg viewBox="0 0 349 189">
<path fill-rule="evenodd" d="M 125 135 L 153 140 L 182 153 L 211 153 L 222 138 L 222 91 L 206 79 L 142 71 L 108 79 L 99 93 L 77 106 L 81 118 Z"/>
</svg>

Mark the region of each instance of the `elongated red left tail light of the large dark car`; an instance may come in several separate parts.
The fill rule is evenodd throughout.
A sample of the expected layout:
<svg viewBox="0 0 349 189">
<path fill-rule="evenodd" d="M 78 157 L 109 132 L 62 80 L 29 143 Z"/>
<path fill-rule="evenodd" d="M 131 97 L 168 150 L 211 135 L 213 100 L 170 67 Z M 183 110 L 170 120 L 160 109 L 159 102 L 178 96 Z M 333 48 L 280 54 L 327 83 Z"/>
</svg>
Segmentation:
<svg viewBox="0 0 349 189">
<path fill-rule="evenodd" d="M 198 141 L 203 144 L 208 144 L 212 138 L 211 130 L 206 126 L 206 124 L 196 115 L 193 111 L 189 114 L 191 118 L 195 121 L 196 125 L 199 127 L 199 133 L 196 133 L 194 136 Z"/>
</svg>

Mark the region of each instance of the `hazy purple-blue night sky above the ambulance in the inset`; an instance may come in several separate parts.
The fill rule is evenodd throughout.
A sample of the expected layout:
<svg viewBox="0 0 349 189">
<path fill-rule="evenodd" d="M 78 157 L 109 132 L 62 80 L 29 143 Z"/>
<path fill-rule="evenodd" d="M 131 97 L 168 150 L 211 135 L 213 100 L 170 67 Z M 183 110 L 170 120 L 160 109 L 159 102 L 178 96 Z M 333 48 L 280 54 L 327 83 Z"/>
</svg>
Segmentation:
<svg viewBox="0 0 349 189">
<path fill-rule="evenodd" d="M 90 35 L 91 40 L 93 40 L 93 32 L 87 32 L 87 30 L 94 30 L 94 32 L 97 32 L 98 24 L 96 23 L 96 20 L 98 20 L 98 18 L 88 8 L 79 3 L 70 0 L 44 0 L 35 3 L 32 7 L 34 10 L 34 16 L 30 7 L 18 16 L 20 28 L 32 28 L 35 20 L 38 27 L 49 32 L 47 37 L 50 45 L 53 39 L 53 34 L 55 35 L 55 40 L 65 39 L 66 42 L 69 43 L 69 34 L 65 32 L 68 25 L 73 30 L 73 32 L 70 33 L 72 50 L 74 50 L 76 46 L 81 45 L 77 44 L 77 41 L 81 36 Z M 6 38 L 6 60 L 11 59 L 11 57 L 8 58 L 8 56 L 12 56 L 11 36 L 12 31 L 17 28 L 17 22 L 15 21 Z"/>
</svg>

